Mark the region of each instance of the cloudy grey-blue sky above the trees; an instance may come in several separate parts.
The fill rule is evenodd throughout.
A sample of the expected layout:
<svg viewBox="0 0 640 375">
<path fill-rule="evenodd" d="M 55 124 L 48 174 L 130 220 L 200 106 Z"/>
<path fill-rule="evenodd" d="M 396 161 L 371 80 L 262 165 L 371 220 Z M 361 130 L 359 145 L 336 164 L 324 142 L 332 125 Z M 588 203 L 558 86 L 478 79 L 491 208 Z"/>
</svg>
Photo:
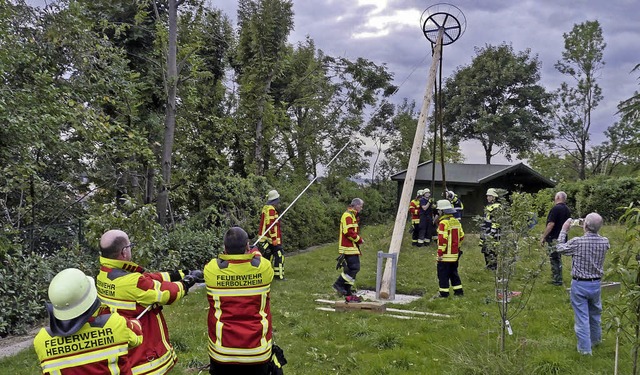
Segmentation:
<svg viewBox="0 0 640 375">
<path fill-rule="evenodd" d="M 42 4 L 44 0 L 31 0 Z M 209 0 L 211 6 L 236 19 L 237 1 Z M 316 46 L 333 56 L 364 57 L 386 64 L 401 85 L 395 101 L 422 103 L 431 46 L 421 27 L 423 12 L 437 2 L 415 0 L 294 0 L 295 29 L 290 42 L 310 36 Z M 617 104 L 638 90 L 640 63 L 640 2 L 638 0 L 458 0 L 450 1 L 466 18 L 464 34 L 443 52 L 443 75 L 469 65 L 476 47 L 511 43 L 514 51 L 531 49 L 542 62 L 542 84 L 549 90 L 569 81 L 553 67 L 564 49 L 563 33 L 574 24 L 598 20 L 607 47 L 606 65 L 598 77 L 604 100 L 593 116 L 594 143 L 618 120 Z M 455 8 L 452 8 L 455 10 Z M 458 14 L 454 14 L 457 16 Z M 458 17 L 462 18 L 462 17 Z M 446 110 L 446 109 L 445 109 Z M 484 163 L 479 144 L 464 144 L 468 163 Z M 495 157 L 493 163 L 504 162 Z"/>
</svg>

